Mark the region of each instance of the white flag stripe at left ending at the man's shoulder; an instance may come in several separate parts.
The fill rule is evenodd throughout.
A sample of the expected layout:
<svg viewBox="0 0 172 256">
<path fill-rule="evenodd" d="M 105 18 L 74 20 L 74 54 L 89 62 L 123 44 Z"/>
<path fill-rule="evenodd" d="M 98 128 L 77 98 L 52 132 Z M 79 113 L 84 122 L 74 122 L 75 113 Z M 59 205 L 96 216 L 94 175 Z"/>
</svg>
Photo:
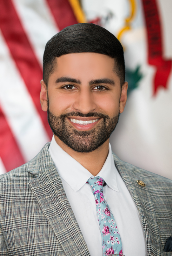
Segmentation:
<svg viewBox="0 0 172 256">
<path fill-rule="evenodd" d="M 0 33 L 0 103 L 26 161 L 49 141 L 30 94 Z"/>
</svg>

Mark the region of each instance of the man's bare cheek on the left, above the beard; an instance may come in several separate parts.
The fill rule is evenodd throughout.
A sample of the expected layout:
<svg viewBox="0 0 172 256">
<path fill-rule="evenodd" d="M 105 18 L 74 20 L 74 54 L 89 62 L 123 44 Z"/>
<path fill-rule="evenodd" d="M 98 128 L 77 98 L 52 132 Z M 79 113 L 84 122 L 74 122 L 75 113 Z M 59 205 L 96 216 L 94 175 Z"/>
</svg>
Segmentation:
<svg viewBox="0 0 172 256">
<path fill-rule="evenodd" d="M 55 115 L 61 115 L 62 113 L 71 111 L 70 108 L 73 105 L 74 98 L 72 95 L 65 95 L 63 93 L 53 94 L 49 96 L 49 109 Z"/>
</svg>

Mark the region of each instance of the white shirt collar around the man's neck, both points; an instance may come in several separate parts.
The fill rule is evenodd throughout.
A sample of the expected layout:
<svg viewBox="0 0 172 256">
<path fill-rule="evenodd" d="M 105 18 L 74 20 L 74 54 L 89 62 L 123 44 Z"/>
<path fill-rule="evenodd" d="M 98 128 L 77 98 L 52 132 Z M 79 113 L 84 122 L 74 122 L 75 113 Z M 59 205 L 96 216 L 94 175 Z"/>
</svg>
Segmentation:
<svg viewBox="0 0 172 256">
<path fill-rule="evenodd" d="M 54 136 L 50 143 L 49 152 L 59 175 L 68 183 L 74 192 L 77 192 L 82 188 L 89 178 L 94 177 L 87 169 L 84 168 L 84 166 L 78 163 L 77 160 L 60 148 L 56 143 Z M 107 183 L 110 188 L 115 191 L 119 191 L 117 187 L 116 173 L 117 169 L 114 165 L 112 149 L 109 144 L 107 159 L 97 176 L 104 179 L 105 183 Z"/>
</svg>

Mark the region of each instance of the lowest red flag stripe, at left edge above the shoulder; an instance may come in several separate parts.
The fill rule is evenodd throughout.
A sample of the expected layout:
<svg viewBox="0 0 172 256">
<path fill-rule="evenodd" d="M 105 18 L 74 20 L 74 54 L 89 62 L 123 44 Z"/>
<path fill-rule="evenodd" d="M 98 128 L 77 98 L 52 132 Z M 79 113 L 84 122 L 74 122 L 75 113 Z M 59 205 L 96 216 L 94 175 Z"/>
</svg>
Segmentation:
<svg viewBox="0 0 172 256">
<path fill-rule="evenodd" d="M 7 172 L 24 164 L 25 161 L 0 108 L 0 157 Z"/>
</svg>

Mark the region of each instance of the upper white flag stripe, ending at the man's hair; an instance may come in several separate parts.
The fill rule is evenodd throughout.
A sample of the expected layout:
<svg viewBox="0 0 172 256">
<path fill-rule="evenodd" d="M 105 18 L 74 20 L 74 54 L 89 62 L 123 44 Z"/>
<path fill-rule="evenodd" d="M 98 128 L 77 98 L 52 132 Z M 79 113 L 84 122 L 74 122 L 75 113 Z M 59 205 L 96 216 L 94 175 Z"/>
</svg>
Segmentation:
<svg viewBox="0 0 172 256">
<path fill-rule="evenodd" d="M 45 44 L 59 32 L 49 6 L 44 0 L 13 0 L 13 3 L 42 66 Z"/>
</svg>

